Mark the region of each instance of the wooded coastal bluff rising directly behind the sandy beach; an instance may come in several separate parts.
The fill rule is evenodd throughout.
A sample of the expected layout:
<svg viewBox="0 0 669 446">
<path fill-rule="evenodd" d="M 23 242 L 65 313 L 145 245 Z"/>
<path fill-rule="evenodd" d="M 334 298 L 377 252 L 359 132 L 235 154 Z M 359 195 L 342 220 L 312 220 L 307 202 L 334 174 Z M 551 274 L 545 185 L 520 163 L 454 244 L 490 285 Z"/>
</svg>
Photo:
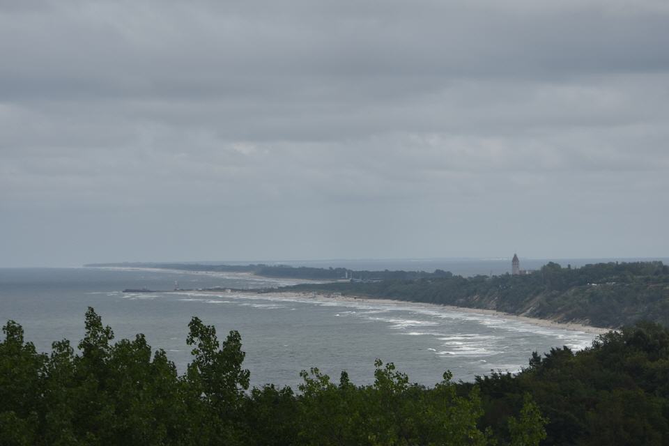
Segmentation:
<svg viewBox="0 0 669 446">
<path fill-rule="evenodd" d="M 527 275 L 461 277 L 449 272 L 377 283 L 301 284 L 291 289 L 495 309 L 557 321 L 620 327 L 638 320 L 669 326 L 669 267 L 662 262 L 548 263 Z"/>
</svg>

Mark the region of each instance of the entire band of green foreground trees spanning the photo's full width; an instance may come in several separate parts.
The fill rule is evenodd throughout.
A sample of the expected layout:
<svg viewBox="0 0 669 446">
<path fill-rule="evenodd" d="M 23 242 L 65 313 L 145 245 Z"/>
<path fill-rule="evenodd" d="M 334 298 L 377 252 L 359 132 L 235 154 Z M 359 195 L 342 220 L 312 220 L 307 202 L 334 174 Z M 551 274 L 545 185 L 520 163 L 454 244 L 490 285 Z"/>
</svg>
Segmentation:
<svg viewBox="0 0 669 446">
<path fill-rule="evenodd" d="M 36 352 L 9 321 L 0 341 L 1 445 L 666 445 L 669 330 L 640 323 L 577 353 L 533 354 L 519 374 L 410 384 L 376 361 L 375 383 L 302 371 L 299 392 L 248 390 L 238 332 L 189 324 L 179 375 L 144 336 L 112 344 L 89 309 L 75 351 Z"/>
</svg>

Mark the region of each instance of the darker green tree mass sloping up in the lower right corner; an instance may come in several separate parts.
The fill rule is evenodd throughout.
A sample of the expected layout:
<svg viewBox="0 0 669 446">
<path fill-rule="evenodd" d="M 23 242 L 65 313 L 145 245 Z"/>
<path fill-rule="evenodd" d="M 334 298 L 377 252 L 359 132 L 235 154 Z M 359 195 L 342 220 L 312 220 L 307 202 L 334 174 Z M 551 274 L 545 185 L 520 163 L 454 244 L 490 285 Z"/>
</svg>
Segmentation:
<svg viewBox="0 0 669 446">
<path fill-rule="evenodd" d="M 475 386 L 482 425 L 493 428 L 531 394 L 549 420 L 544 445 L 669 444 L 669 330 L 654 323 L 608 332 L 577 353 L 535 353 L 520 374 L 493 373 Z"/>
</svg>

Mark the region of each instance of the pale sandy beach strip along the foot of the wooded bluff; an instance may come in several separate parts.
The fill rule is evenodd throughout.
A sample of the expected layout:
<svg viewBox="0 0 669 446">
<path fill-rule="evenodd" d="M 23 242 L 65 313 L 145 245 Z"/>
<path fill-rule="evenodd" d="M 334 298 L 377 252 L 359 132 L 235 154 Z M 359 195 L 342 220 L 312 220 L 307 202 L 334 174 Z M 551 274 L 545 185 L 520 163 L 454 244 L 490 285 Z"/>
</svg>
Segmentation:
<svg viewBox="0 0 669 446">
<path fill-rule="evenodd" d="M 201 293 L 220 294 L 213 291 L 201 291 Z M 424 307 L 424 308 L 440 308 L 440 309 L 451 310 L 454 312 L 495 316 L 500 319 L 507 319 L 512 321 L 528 323 L 530 325 L 536 325 L 537 327 L 542 327 L 542 328 L 556 328 L 560 330 L 585 332 L 589 334 L 605 334 L 610 332 L 611 330 L 615 330 L 613 328 L 593 327 L 592 325 L 585 325 L 582 323 L 562 323 L 562 322 L 551 321 L 550 319 L 518 316 L 516 314 L 498 312 L 493 309 L 454 307 L 452 305 L 439 305 L 426 302 L 412 302 L 410 300 L 378 299 L 378 298 L 367 298 L 362 296 L 351 296 L 351 295 L 344 296 L 344 295 L 331 295 L 325 293 L 309 293 L 309 292 L 295 292 L 295 291 L 270 291 L 266 293 L 258 293 L 254 292 L 253 290 L 249 290 L 247 293 L 259 296 L 268 295 L 268 296 L 279 297 L 283 295 L 286 297 L 293 297 L 293 298 L 307 298 L 307 299 L 318 298 L 323 300 L 336 300 L 338 302 L 362 302 L 371 304 L 395 304 L 395 305 L 411 305 L 413 307 Z"/>
</svg>

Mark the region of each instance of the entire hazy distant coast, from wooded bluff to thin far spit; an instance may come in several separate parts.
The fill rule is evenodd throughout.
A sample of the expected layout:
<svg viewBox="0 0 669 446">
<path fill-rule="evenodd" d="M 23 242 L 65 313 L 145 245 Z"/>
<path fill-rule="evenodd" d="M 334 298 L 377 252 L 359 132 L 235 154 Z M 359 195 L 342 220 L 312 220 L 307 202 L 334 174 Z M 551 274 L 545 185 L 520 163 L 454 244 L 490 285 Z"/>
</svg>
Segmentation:
<svg viewBox="0 0 669 446">
<path fill-rule="evenodd" d="M 661 261 L 595 263 L 580 268 L 564 268 L 549 262 L 540 270 L 523 275 L 472 277 L 444 270 L 355 271 L 266 264 L 95 263 L 86 266 L 244 272 L 263 277 L 325 281 L 284 286 L 278 291 L 450 305 L 596 328 L 618 328 L 640 320 L 669 325 L 669 266 Z"/>
</svg>

